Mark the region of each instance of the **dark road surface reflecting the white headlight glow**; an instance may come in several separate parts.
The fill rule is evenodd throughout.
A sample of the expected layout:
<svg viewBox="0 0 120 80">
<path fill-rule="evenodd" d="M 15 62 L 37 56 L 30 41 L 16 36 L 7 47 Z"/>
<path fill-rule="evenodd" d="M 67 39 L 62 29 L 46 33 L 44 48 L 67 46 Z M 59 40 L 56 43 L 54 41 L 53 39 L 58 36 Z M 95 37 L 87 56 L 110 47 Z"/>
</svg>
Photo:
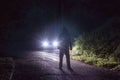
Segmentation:
<svg viewBox="0 0 120 80">
<path fill-rule="evenodd" d="M 20 53 L 19 53 L 20 54 Z M 73 71 L 59 70 L 58 51 L 26 51 L 16 55 L 12 80 L 120 80 L 120 75 L 71 60 Z"/>
</svg>

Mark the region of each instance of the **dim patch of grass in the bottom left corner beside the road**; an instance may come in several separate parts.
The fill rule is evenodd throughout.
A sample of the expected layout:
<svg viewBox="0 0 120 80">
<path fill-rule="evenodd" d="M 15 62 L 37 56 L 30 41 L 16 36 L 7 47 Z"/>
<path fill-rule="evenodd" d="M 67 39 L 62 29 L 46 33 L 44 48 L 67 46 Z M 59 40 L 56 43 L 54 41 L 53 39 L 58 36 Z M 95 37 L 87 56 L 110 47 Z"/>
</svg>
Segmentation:
<svg viewBox="0 0 120 80">
<path fill-rule="evenodd" d="M 0 57 L 0 80 L 9 80 L 14 66 L 12 57 Z"/>
</svg>

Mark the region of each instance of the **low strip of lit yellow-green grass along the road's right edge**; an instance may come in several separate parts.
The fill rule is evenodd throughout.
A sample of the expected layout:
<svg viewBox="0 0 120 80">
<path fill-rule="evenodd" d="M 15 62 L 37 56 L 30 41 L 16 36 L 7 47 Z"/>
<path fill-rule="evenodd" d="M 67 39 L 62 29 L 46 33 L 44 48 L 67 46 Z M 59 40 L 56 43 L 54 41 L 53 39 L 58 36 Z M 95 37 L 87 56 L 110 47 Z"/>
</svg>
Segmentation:
<svg viewBox="0 0 120 80">
<path fill-rule="evenodd" d="M 120 63 L 105 58 L 99 58 L 97 55 L 88 56 L 84 54 L 71 54 L 71 59 L 78 60 L 90 65 L 104 67 L 112 71 L 120 71 Z"/>
</svg>

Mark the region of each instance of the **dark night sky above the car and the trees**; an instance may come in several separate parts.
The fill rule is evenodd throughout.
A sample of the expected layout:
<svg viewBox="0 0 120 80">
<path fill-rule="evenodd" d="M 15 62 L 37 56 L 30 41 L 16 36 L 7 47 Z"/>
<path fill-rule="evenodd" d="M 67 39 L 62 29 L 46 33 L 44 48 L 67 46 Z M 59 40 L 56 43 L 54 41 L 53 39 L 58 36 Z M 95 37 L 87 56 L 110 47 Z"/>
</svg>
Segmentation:
<svg viewBox="0 0 120 80">
<path fill-rule="evenodd" d="M 0 40 L 19 41 L 63 26 L 78 34 L 119 16 L 119 0 L 2 0 Z"/>
</svg>

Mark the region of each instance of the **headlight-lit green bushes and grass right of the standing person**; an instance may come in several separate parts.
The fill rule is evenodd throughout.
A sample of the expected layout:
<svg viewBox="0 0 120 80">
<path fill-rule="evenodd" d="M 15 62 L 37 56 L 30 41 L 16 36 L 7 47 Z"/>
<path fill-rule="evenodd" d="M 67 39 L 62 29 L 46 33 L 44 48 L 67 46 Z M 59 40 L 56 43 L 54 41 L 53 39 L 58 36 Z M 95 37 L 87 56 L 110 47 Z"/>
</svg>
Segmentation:
<svg viewBox="0 0 120 80">
<path fill-rule="evenodd" d="M 120 31 L 109 28 L 86 32 L 76 38 L 72 58 L 96 66 L 117 69 L 120 62 L 119 51 Z"/>
</svg>

